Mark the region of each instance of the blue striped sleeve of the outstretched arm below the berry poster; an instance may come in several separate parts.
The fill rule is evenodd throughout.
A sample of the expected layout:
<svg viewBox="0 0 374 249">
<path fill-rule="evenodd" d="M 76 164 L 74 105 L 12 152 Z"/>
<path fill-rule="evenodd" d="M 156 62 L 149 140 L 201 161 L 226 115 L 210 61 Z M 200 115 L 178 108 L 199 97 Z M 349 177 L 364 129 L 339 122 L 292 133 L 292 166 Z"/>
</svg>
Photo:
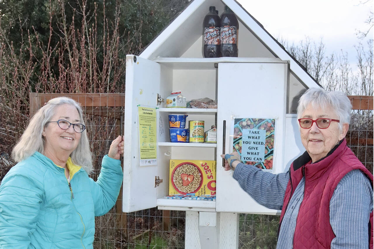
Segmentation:
<svg viewBox="0 0 374 249">
<path fill-rule="evenodd" d="M 258 204 L 270 209 L 282 209 L 289 173 L 272 174 L 252 165 L 239 163 L 233 178 Z M 262 191 L 258 191 L 261 189 Z"/>
</svg>

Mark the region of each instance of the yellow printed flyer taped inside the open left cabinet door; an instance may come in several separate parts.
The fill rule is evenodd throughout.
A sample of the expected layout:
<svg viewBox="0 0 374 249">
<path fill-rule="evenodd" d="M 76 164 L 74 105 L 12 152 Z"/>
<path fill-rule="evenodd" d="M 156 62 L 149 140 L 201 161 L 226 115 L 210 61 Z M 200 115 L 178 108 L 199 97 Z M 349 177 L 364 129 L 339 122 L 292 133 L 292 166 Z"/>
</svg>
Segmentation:
<svg viewBox="0 0 374 249">
<path fill-rule="evenodd" d="M 156 108 L 138 106 L 140 166 L 157 165 Z"/>
</svg>

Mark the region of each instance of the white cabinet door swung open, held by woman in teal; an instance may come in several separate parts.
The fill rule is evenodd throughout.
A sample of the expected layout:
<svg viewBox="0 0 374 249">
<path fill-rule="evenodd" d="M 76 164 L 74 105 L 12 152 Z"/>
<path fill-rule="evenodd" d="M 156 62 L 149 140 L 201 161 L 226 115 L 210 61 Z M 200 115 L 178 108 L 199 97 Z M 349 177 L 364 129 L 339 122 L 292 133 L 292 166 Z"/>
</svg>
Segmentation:
<svg viewBox="0 0 374 249">
<path fill-rule="evenodd" d="M 135 55 L 127 55 L 123 212 L 156 207 L 157 192 L 154 184 L 157 165 L 140 166 L 139 161 L 138 105 L 156 108 L 159 88 L 160 65 Z"/>
</svg>

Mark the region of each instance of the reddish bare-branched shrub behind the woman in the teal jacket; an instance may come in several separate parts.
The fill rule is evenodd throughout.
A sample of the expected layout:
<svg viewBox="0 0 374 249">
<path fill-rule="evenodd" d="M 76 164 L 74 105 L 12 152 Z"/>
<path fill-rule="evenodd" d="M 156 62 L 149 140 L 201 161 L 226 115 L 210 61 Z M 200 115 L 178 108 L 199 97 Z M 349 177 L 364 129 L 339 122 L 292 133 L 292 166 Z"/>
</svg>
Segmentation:
<svg viewBox="0 0 374 249">
<path fill-rule="evenodd" d="M 97 13 L 86 13 L 86 1 L 74 10 L 70 24 L 65 22 L 64 3 L 58 1 L 62 21 L 58 30 L 52 30 L 52 3 L 49 2 L 49 40 L 43 44 L 39 34 L 30 30 L 22 36 L 21 48 L 16 51 L 8 40 L 7 30 L 0 25 L 0 152 L 10 154 L 12 146 L 22 134 L 29 118 L 29 92 L 80 93 L 125 92 L 123 59 L 119 53 L 136 49 L 131 40 L 120 46 L 119 14 L 116 8 L 115 22 L 108 22 L 104 12 L 104 35 L 98 37 Z M 105 1 L 103 2 L 105 9 Z M 56 8 L 56 6 L 55 6 Z M 80 15 L 80 28 L 74 25 L 74 17 Z M 88 27 L 87 20 L 94 22 Z M 1 22 L 1 18 L 0 18 Z M 51 46 L 53 36 L 59 42 Z M 32 38 L 33 37 L 33 38 Z M 33 41 L 35 40 L 35 43 Z M 102 42 L 98 42 L 101 40 Z M 98 51 L 103 51 L 101 55 Z M 39 53 L 42 56 L 39 56 Z M 102 65 L 98 64 L 98 57 Z M 58 71 L 55 71 L 57 68 Z M 1 169 L 2 175 L 7 172 Z"/>
</svg>

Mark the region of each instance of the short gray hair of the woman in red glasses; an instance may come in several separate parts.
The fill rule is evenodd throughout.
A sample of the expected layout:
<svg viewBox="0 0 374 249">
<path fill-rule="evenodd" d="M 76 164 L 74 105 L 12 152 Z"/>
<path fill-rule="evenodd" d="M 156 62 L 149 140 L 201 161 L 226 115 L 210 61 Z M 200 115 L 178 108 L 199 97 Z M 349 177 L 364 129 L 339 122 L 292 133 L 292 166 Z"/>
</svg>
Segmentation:
<svg viewBox="0 0 374 249">
<path fill-rule="evenodd" d="M 299 100 L 299 104 L 297 106 L 298 119 L 301 118 L 301 114 L 303 114 L 304 110 L 309 104 L 312 104 L 313 108 L 324 109 L 331 107 L 340 120 L 338 123 L 340 131 L 342 130 L 344 123 L 350 123 L 352 104 L 347 95 L 342 92 L 328 92 L 322 87 L 309 88 Z"/>
</svg>

